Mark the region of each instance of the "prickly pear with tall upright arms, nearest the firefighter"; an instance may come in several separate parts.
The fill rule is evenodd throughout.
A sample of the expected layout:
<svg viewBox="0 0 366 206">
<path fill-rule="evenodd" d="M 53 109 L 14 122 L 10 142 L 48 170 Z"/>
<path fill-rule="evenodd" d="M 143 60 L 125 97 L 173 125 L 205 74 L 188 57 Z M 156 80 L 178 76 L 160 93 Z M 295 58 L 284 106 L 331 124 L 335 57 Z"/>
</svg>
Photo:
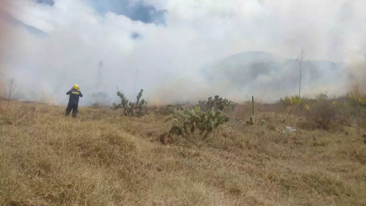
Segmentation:
<svg viewBox="0 0 366 206">
<path fill-rule="evenodd" d="M 137 95 L 137 102 L 128 102 L 128 100 L 126 99 L 126 97 L 124 96 L 123 93 L 121 92 L 117 92 L 117 96 L 119 96 L 121 98 L 121 103 L 120 104 L 116 104 L 113 103 L 113 107 L 111 107 L 112 110 L 116 110 L 119 108 L 124 108 L 124 115 L 126 116 L 143 116 L 145 114 L 147 114 L 149 112 L 149 110 L 143 110 L 143 107 L 147 106 L 147 102 L 145 101 L 145 99 L 141 99 L 140 98 L 142 96 L 142 92 L 143 89 L 140 90 L 140 92 Z"/>
</svg>

